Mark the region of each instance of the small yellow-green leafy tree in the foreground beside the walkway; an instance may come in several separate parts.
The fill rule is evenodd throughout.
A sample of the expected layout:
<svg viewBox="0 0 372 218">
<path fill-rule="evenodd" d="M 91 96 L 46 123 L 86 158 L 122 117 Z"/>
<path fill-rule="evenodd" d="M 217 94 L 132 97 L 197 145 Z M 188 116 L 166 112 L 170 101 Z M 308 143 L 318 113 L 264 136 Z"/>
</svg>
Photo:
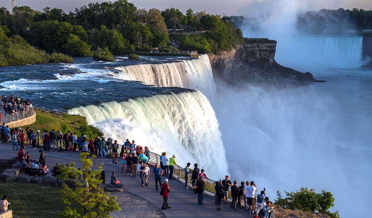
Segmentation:
<svg viewBox="0 0 372 218">
<path fill-rule="evenodd" d="M 61 175 L 57 178 L 73 184 L 62 186 L 62 202 L 66 205 L 58 213 L 59 218 L 109 218 L 110 212 L 120 210 L 116 197 L 103 191 L 100 178 L 103 163 L 93 166 L 93 157 L 88 153 L 80 153 L 82 169 L 77 169 L 74 162 L 70 167 L 61 167 Z"/>
</svg>

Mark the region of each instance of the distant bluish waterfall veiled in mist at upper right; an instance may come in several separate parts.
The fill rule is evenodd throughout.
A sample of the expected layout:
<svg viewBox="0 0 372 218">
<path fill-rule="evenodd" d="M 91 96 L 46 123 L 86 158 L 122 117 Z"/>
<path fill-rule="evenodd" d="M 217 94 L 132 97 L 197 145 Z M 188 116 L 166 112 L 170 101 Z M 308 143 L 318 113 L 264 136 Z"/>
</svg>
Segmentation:
<svg viewBox="0 0 372 218">
<path fill-rule="evenodd" d="M 277 41 L 275 60 L 299 71 L 362 65 L 361 36 L 302 36 Z"/>
</svg>

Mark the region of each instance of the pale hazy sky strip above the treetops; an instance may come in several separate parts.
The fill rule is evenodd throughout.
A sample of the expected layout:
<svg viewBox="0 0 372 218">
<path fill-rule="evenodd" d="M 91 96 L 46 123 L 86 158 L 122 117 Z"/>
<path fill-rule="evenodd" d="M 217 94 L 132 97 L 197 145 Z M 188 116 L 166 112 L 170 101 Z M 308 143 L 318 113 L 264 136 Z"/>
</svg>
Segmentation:
<svg viewBox="0 0 372 218">
<path fill-rule="evenodd" d="M 73 11 L 76 7 L 88 4 L 94 0 L 16 0 L 17 6 L 28 5 L 35 10 L 41 10 L 44 7 L 57 7 L 65 12 Z M 102 2 L 104 0 L 98 0 Z M 245 9 L 254 10 L 250 7 L 257 5 L 261 1 L 266 4 L 270 2 L 282 2 L 283 6 L 291 6 L 293 0 L 129 0 L 138 8 L 158 8 L 164 10 L 170 7 L 176 7 L 186 12 L 192 8 L 195 11 L 205 10 L 207 13 L 226 15 L 246 15 Z M 372 9 L 372 0 L 296 0 L 296 3 L 304 4 L 307 10 L 318 10 L 322 8 L 337 9 L 340 7 L 352 9 L 353 7 Z M 0 0 L 0 7 L 10 9 L 12 0 Z M 248 11 L 250 11 L 248 10 Z"/>
</svg>

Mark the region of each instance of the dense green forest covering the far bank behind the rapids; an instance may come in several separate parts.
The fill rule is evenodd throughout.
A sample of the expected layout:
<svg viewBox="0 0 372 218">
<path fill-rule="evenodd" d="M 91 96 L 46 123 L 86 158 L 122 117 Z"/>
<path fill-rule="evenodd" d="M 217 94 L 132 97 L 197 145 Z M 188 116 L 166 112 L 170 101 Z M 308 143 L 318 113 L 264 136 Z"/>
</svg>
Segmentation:
<svg viewBox="0 0 372 218">
<path fill-rule="evenodd" d="M 203 51 L 218 52 L 231 49 L 243 38 L 230 23 L 205 12 L 137 9 L 127 0 L 89 3 L 70 13 L 49 7 L 39 12 L 28 6 L 15 7 L 10 13 L 3 7 L 0 25 L 9 29 L 9 37 L 20 35 L 36 48 L 73 56 L 92 56 L 97 48 L 108 48 L 114 55 L 153 48 L 174 51 L 168 30 L 178 28 L 208 30 L 202 34 L 206 40 L 189 43 L 189 50 L 206 47 Z"/>
</svg>

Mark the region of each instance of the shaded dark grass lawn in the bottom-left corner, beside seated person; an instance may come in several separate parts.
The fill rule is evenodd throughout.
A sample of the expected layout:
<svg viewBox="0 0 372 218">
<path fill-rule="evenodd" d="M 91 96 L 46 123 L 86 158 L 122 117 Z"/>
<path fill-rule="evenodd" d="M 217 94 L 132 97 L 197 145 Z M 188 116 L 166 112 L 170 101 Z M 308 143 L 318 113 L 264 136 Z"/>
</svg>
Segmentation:
<svg viewBox="0 0 372 218">
<path fill-rule="evenodd" d="M 8 195 L 14 218 L 57 217 L 62 211 L 61 188 L 19 182 L 0 182 L 0 195 Z"/>
</svg>

